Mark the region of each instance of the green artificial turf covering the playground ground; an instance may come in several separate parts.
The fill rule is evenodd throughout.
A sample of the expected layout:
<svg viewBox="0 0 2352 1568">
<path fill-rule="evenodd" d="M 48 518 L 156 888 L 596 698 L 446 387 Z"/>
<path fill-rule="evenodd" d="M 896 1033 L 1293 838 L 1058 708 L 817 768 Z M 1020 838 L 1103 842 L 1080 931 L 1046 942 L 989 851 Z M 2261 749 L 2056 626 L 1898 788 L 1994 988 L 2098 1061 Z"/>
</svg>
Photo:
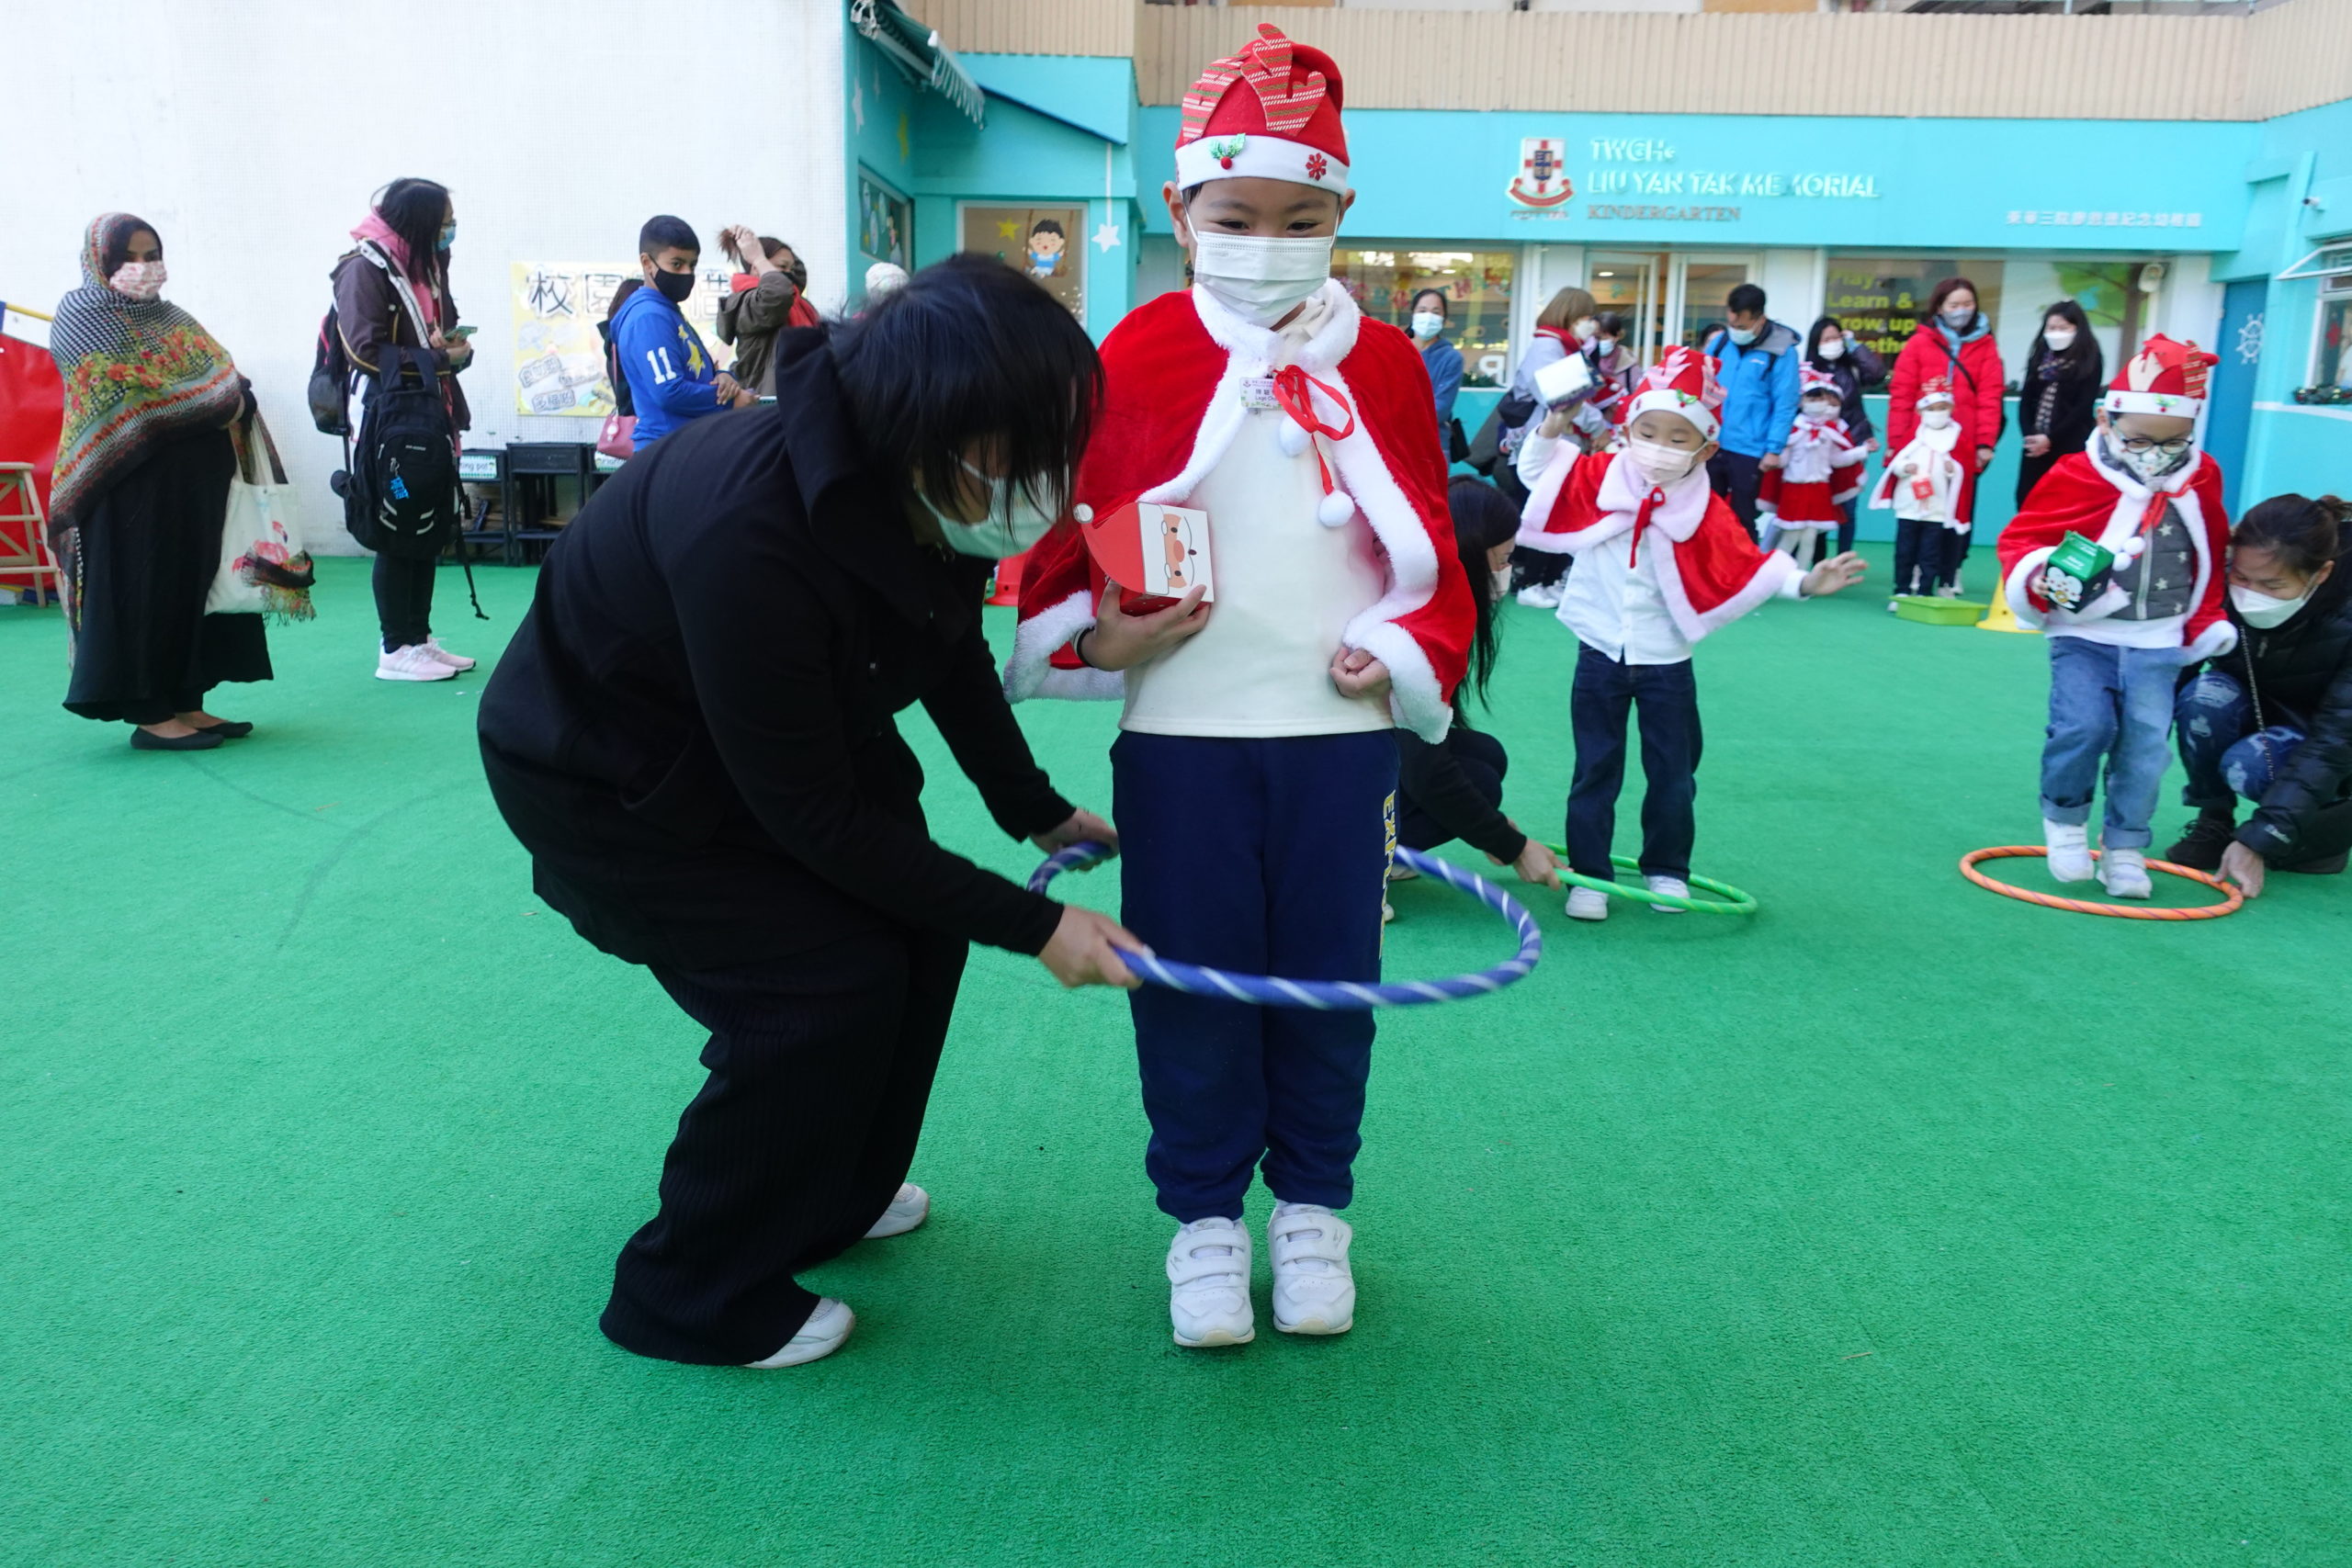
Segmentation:
<svg viewBox="0 0 2352 1568">
<path fill-rule="evenodd" d="M 480 576 L 440 630 L 487 658 L 532 578 Z M 2042 642 L 1882 604 L 1700 651 L 1698 870 L 1757 917 L 1541 898 L 1531 980 L 1383 1013 L 1352 1335 L 1169 1345 L 1124 1001 L 981 952 L 936 1218 L 811 1279 L 858 1333 L 786 1373 L 595 1331 L 701 1037 L 532 898 L 480 675 L 372 679 L 327 562 L 216 693 L 259 736 L 148 755 L 0 609 L 0 1561 L 2352 1563 L 2352 879 L 2199 924 L 1969 886 L 2037 835 Z M 1510 611 L 1548 837 L 1571 658 Z M 1115 710 L 1021 717 L 1108 806 Z M 1025 870 L 910 731 L 941 839 Z M 1510 950 L 1395 905 L 1395 976 Z"/>
</svg>

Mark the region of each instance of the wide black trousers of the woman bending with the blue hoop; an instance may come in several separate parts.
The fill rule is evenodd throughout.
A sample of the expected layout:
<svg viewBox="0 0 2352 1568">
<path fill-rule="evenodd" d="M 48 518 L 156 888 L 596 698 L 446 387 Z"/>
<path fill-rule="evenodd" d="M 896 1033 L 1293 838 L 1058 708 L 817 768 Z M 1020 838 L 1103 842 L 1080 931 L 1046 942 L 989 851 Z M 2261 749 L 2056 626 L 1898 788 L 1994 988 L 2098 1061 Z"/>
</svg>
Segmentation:
<svg viewBox="0 0 2352 1568">
<path fill-rule="evenodd" d="M 818 1298 L 793 1274 L 856 1244 L 915 1161 L 964 950 L 887 931 L 741 969 L 654 969 L 710 1030 L 710 1077 L 661 1161 L 661 1213 L 614 1265 L 614 1345 L 743 1366 L 809 1321 Z"/>
</svg>

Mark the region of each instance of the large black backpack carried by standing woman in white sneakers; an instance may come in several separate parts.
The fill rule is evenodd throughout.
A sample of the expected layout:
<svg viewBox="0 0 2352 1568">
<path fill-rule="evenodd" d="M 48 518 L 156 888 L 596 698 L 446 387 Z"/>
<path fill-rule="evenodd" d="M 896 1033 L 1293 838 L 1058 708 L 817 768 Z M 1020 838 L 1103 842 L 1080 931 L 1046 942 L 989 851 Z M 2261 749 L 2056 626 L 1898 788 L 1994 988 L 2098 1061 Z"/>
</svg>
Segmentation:
<svg viewBox="0 0 2352 1568">
<path fill-rule="evenodd" d="M 433 557 L 456 536 L 463 491 L 433 355 L 386 348 L 367 390 L 348 484 L 350 536 L 383 555 Z"/>
</svg>

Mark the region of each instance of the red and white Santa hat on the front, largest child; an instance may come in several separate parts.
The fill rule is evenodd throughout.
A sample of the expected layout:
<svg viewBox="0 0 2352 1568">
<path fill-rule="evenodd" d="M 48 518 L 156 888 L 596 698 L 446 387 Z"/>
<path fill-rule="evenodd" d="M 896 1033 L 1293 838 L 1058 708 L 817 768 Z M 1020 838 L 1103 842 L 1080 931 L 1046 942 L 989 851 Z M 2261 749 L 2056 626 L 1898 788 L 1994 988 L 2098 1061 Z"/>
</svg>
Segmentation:
<svg viewBox="0 0 2352 1568">
<path fill-rule="evenodd" d="M 1287 179 L 1348 190 L 1338 66 L 1270 21 L 1200 73 L 1176 110 L 1176 188 L 1211 179 Z"/>
</svg>

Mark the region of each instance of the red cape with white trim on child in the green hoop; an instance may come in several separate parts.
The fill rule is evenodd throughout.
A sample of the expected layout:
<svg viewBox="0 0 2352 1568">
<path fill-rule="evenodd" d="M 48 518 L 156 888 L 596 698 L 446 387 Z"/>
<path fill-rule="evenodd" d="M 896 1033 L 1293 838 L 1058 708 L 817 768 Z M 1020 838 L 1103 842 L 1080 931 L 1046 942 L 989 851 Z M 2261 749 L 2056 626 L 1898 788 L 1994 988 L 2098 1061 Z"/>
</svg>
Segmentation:
<svg viewBox="0 0 2352 1568">
<path fill-rule="evenodd" d="M 1519 512 L 1519 543 L 1583 555 L 1632 529 L 1644 503 L 1649 522 L 1635 538 L 1635 557 L 1658 552 L 1658 592 L 1684 642 L 1738 621 L 1802 576 L 1788 555 L 1757 550 L 1724 498 L 1708 489 L 1705 473 L 1663 491 L 1616 451 L 1569 461 L 1562 449 Z"/>
</svg>

